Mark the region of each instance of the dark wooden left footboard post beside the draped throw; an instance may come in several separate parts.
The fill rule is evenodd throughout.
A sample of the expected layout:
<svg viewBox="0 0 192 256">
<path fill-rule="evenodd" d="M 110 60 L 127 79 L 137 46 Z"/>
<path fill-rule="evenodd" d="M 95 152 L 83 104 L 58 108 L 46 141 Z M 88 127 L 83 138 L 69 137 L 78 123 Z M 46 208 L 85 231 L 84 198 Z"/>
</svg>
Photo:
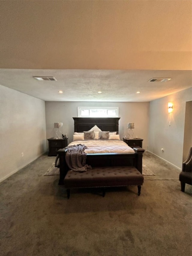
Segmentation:
<svg viewBox="0 0 192 256">
<path fill-rule="evenodd" d="M 59 177 L 59 183 L 58 185 L 64 185 L 64 177 L 68 171 L 68 166 L 66 164 L 65 161 L 65 154 L 67 152 L 67 149 L 59 149 L 58 150 L 58 155 L 59 155 L 59 173 L 60 173 L 60 177 Z"/>
</svg>

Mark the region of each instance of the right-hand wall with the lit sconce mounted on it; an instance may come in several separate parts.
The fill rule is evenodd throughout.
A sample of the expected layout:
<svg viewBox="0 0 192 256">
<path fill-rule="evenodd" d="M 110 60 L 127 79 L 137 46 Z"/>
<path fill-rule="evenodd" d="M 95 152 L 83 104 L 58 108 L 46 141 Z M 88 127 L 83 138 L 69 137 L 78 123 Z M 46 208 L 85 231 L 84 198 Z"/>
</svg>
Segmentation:
<svg viewBox="0 0 192 256">
<path fill-rule="evenodd" d="M 191 99 L 189 88 L 150 102 L 148 149 L 178 168 L 182 168 L 183 161 L 185 105 Z M 168 113 L 168 102 L 173 103 L 171 114 Z"/>
</svg>

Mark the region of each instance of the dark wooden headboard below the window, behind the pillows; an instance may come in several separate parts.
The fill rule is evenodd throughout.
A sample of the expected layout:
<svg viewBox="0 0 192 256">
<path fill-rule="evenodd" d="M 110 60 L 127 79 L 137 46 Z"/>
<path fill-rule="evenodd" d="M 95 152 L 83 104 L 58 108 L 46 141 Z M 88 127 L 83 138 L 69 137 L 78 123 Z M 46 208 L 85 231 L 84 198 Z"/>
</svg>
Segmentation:
<svg viewBox="0 0 192 256">
<path fill-rule="evenodd" d="M 73 117 L 74 132 L 89 131 L 97 125 L 101 131 L 116 131 L 119 133 L 120 117 Z"/>
</svg>

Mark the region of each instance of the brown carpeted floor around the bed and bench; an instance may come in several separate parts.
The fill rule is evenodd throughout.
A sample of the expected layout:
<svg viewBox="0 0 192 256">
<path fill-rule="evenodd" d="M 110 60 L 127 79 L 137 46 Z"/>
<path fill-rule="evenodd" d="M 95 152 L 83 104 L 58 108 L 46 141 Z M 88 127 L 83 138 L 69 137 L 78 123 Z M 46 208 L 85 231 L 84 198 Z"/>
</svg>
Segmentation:
<svg viewBox="0 0 192 256">
<path fill-rule="evenodd" d="M 0 255 L 191 256 L 191 187 L 179 170 L 148 152 L 155 176 L 137 187 L 72 190 L 44 176 L 43 155 L 0 183 Z"/>
</svg>

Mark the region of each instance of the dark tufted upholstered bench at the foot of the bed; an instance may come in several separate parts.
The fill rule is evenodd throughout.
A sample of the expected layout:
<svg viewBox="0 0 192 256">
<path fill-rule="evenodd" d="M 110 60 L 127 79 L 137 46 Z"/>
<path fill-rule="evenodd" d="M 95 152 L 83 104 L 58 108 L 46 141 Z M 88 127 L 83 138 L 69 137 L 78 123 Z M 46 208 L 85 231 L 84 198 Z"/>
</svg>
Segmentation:
<svg viewBox="0 0 192 256">
<path fill-rule="evenodd" d="M 104 197 L 106 187 L 137 186 L 140 195 L 143 181 L 143 175 L 133 166 L 94 167 L 83 173 L 68 171 L 64 187 L 67 188 L 67 198 L 70 188 L 103 188 Z"/>
</svg>

